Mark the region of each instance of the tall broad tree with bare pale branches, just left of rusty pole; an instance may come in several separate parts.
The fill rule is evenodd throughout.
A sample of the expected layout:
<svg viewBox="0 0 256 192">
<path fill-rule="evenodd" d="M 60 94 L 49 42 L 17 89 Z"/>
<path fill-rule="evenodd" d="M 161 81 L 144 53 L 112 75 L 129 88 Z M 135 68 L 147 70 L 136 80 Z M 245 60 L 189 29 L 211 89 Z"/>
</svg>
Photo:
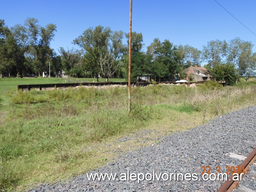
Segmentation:
<svg viewBox="0 0 256 192">
<path fill-rule="evenodd" d="M 86 70 L 97 77 L 101 73 L 108 81 L 121 65 L 123 36 L 122 31 L 113 32 L 109 27 L 96 26 L 95 29 L 90 27 L 84 31 L 73 43 L 80 46 L 85 53 Z"/>
</svg>

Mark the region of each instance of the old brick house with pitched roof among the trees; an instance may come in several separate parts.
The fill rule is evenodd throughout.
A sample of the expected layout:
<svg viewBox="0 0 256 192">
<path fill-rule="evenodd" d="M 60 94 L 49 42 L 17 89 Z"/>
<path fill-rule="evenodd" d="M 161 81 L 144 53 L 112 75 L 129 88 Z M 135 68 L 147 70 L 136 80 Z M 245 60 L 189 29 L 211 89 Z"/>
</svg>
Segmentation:
<svg viewBox="0 0 256 192">
<path fill-rule="evenodd" d="M 188 67 L 184 72 L 187 74 L 187 81 L 209 81 L 212 78 L 209 70 L 204 67 L 197 67 L 197 64 L 194 67 Z"/>
</svg>

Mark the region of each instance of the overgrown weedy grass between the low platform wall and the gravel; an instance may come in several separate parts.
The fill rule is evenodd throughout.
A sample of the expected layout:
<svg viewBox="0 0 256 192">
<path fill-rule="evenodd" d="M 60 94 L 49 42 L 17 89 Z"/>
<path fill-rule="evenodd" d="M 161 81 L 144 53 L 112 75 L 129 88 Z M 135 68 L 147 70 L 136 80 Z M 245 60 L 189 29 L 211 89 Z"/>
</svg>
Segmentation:
<svg viewBox="0 0 256 192">
<path fill-rule="evenodd" d="M 243 83 L 132 87 L 129 115 L 127 87 L 8 92 L 4 97 L 11 103 L 0 110 L 6 113 L 0 121 L 0 189 L 23 190 L 30 183 L 54 182 L 93 169 L 112 160 L 121 148 L 125 152 L 148 145 L 137 137 L 137 142 L 127 140 L 127 145 L 116 147 L 113 140 L 139 129 L 155 131 L 151 140 L 156 142 L 255 104 L 254 83 Z"/>
</svg>

